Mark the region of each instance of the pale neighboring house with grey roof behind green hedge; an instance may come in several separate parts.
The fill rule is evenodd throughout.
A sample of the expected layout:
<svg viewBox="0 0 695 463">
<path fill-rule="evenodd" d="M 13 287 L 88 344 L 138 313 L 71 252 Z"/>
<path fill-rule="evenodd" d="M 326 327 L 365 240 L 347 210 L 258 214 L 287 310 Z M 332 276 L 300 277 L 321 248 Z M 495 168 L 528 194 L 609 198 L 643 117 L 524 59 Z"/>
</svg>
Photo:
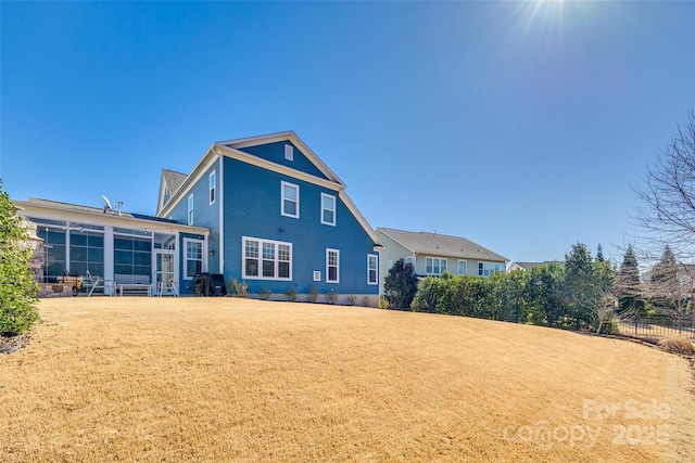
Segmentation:
<svg viewBox="0 0 695 463">
<path fill-rule="evenodd" d="M 401 258 L 413 263 L 419 276 L 440 275 L 444 270 L 455 275 L 490 276 L 504 272 L 508 261 L 465 237 L 387 228 L 378 228 L 377 235 L 386 246 L 380 259 L 380 294 L 383 294 L 383 278 Z"/>
</svg>

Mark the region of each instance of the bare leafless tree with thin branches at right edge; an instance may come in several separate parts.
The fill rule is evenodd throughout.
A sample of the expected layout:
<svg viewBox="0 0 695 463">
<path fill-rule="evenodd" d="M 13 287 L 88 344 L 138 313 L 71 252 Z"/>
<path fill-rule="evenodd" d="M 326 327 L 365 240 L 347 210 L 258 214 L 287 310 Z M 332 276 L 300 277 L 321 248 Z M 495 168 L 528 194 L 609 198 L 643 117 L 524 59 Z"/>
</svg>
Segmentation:
<svg viewBox="0 0 695 463">
<path fill-rule="evenodd" d="M 693 256 L 695 253 L 695 113 L 678 125 L 671 141 L 659 150 L 645 181 L 633 188 L 643 206 L 636 220 L 656 240 Z"/>
</svg>

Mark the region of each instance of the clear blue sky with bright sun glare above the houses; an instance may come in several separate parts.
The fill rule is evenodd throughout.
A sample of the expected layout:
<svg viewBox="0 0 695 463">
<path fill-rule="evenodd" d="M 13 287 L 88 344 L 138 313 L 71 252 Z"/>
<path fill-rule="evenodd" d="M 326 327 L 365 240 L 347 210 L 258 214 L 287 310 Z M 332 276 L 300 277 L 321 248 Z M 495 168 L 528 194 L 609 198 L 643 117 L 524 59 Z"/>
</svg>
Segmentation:
<svg viewBox="0 0 695 463">
<path fill-rule="evenodd" d="M 162 168 L 294 130 L 372 227 L 620 259 L 695 106 L 695 2 L 0 2 L 10 196 L 154 214 Z"/>
</svg>

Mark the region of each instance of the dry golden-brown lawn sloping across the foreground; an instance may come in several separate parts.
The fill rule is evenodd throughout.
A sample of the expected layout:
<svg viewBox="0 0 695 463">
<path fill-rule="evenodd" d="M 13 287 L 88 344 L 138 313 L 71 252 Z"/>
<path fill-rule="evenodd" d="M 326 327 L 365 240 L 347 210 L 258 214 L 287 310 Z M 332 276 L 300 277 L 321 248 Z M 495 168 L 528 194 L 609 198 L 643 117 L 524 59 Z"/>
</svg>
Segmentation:
<svg viewBox="0 0 695 463">
<path fill-rule="evenodd" d="M 685 360 L 534 326 L 64 298 L 0 356 L 0 461 L 691 461 Z"/>
</svg>

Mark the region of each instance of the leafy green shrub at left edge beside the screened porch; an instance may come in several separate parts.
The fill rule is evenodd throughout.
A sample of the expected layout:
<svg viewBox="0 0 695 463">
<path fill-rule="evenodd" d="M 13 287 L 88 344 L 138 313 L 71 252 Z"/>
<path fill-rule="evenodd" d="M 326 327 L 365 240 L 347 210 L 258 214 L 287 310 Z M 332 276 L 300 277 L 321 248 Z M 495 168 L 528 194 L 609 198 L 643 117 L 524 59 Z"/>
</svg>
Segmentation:
<svg viewBox="0 0 695 463">
<path fill-rule="evenodd" d="M 29 265 L 34 249 L 0 180 L 0 335 L 16 336 L 38 319 L 34 305 L 38 286 Z"/>
</svg>

